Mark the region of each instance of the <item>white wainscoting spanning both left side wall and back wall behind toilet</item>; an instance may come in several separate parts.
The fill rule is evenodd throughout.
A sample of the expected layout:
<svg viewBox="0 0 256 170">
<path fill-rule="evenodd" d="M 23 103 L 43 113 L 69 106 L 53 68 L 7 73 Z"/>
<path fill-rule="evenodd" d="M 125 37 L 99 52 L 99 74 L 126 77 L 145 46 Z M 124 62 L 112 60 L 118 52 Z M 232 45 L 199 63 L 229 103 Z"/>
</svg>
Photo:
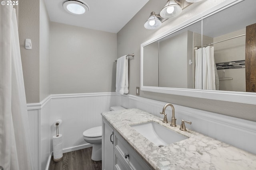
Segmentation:
<svg viewBox="0 0 256 170">
<path fill-rule="evenodd" d="M 32 157 L 36 170 L 48 169 L 52 155 L 53 123 L 62 119 L 59 133 L 63 135 L 63 152 L 91 147 L 84 141 L 86 129 L 101 125 L 100 113 L 116 106 L 115 92 L 50 95 L 40 103 L 27 104 L 32 144 Z"/>
</svg>

